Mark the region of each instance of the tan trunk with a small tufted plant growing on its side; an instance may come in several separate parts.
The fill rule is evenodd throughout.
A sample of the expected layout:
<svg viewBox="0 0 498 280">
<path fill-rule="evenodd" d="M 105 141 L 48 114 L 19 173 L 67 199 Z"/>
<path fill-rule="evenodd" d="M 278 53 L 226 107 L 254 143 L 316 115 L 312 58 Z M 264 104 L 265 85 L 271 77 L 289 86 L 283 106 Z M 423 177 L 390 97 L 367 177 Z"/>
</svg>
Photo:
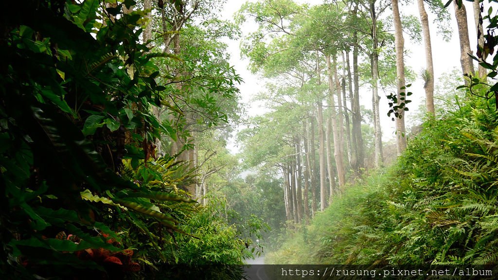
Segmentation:
<svg viewBox="0 0 498 280">
<path fill-rule="evenodd" d="M 436 116 L 434 111 L 434 67 L 432 65 L 432 46 L 431 46 L 431 34 L 429 29 L 429 19 L 427 17 L 427 12 L 425 12 L 424 0 L 417 0 L 418 2 L 418 12 L 420 13 L 420 21 L 422 22 L 422 32 L 424 34 L 424 44 L 425 44 L 425 107 L 427 108 L 427 113 Z"/>
</svg>

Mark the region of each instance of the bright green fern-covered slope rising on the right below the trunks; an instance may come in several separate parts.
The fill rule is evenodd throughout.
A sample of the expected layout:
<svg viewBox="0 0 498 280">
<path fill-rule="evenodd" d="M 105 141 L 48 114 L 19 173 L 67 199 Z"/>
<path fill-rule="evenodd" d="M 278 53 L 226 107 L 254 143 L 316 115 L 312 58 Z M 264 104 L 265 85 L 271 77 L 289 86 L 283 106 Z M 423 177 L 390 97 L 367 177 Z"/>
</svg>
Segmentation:
<svg viewBox="0 0 498 280">
<path fill-rule="evenodd" d="M 498 114 L 490 107 L 468 98 L 426 122 L 395 165 L 348 189 L 271 262 L 496 264 Z"/>
</svg>

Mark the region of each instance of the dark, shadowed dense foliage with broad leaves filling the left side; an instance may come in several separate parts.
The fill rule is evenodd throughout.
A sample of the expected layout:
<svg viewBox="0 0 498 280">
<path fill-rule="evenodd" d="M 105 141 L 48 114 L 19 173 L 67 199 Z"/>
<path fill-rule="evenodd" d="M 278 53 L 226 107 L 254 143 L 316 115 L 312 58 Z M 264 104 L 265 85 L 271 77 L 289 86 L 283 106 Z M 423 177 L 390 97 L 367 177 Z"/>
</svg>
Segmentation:
<svg viewBox="0 0 498 280">
<path fill-rule="evenodd" d="M 187 75 L 210 56 L 151 52 L 140 43 L 146 12 L 132 0 L 4 4 L 0 278 L 143 278 L 249 257 L 218 210 L 186 194 L 194 170 L 155 155 L 156 139 L 175 140 L 182 127 L 153 106 L 185 123 L 185 105 L 168 101 L 187 93 L 161 68 Z M 226 122 L 213 95 L 233 103 L 237 77 L 208 74 L 195 78 L 209 94 L 184 99 L 210 124 Z"/>
</svg>

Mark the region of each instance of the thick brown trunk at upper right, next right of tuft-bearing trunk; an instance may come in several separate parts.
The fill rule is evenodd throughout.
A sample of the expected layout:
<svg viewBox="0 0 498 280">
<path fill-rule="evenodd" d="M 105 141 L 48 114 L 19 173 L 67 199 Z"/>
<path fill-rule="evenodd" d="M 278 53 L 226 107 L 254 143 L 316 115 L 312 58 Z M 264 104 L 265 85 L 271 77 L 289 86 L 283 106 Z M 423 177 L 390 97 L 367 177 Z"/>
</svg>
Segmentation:
<svg viewBox="0 0 498 280">
<path fill-rule="evenodd" d="M 469 54 L 472 54 L 469 42 L 469 27 L 467 26 L 467 10 L 462 2 L 459 8 L 457 0 L 453 1 L 455 6 L 455 17 L 458 25 L 458 38 L 460 40 L 460 63 L 462 64 L 462 73 L 467 75 L 474 75 L 474 64 Z M 466 79 L 466 84 L 468 80 Z"/>
</svg>

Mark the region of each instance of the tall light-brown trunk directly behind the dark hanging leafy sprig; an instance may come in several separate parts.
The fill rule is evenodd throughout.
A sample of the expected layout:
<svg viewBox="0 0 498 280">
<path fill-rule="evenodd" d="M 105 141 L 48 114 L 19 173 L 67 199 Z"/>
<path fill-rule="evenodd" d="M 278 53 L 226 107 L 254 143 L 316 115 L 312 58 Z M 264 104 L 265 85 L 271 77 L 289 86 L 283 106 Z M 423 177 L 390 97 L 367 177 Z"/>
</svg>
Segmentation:
<svg viewBox="0 0 498 280">
<path fill-rule="evenodd" d="M 399 16 L 398 0 L 391 0 L 392 17 L 394 20 L 394 44 L 396 46 L 396 75 L 397 75 L 397 98 L 398 105 L 401 103 L 401 92 L 404 92 L 405 74 L 404 74 L 404 39 L 403 29 L 401 26 L 401 17 Z M 404 110 L 399 109 L 400 118 L 396 118 L 396 147 L 398 156 L 406 149 Z"/>
</svg>

